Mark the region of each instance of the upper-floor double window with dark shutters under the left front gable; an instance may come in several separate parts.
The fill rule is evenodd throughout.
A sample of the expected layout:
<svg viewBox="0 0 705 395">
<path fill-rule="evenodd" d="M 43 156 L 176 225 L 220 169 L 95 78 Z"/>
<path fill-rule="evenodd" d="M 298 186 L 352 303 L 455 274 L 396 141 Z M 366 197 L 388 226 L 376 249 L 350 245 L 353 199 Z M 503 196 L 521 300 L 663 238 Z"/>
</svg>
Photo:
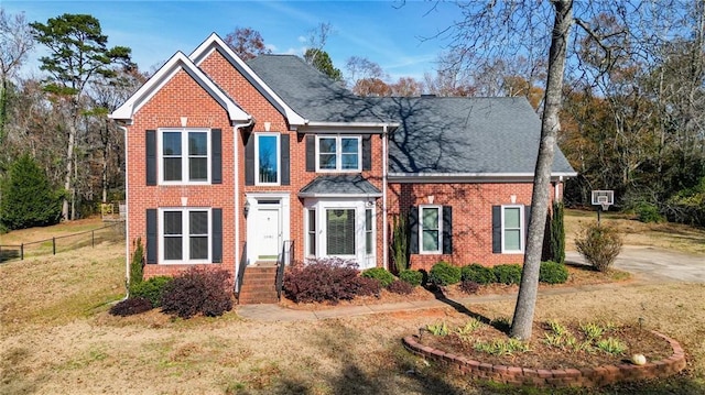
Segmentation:
<svg viewBox="0 0 705 395">
<path fill-rule="evenodd" d="M 210 182 L 210 130 L 161 129 L 159 133 L 162 184 Z"/>
</svg>

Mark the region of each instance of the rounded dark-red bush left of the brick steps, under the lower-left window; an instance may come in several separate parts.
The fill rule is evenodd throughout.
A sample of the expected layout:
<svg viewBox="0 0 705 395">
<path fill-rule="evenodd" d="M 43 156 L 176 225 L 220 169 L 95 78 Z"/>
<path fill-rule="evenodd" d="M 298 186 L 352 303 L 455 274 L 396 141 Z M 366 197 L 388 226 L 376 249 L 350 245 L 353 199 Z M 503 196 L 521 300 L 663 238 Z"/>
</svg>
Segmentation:
<svg viewBox="0 0 705 395">
<path fill-rule="evenodd" d="M 230 274 L 224 270 L 192 267 L 166 286 L 162 310 L 181 318 L 197 314 L 221 316 L 232 309 Z"/>
</svg>

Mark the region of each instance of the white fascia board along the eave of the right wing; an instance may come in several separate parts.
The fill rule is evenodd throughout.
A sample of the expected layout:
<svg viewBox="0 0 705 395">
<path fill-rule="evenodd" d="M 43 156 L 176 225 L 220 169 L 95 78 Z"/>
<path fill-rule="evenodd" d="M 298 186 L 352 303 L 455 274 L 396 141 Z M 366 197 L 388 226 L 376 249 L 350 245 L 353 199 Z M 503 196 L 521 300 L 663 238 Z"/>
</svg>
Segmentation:
<svg viewBox="0 0 705 395">
<path fill-rule="evenodd" d="M 577 173 L 551 173 L 551 178 L 570 178 Z M 389 173 L 391 183 L 530 183 L 533 173 Z"/>
</svg>

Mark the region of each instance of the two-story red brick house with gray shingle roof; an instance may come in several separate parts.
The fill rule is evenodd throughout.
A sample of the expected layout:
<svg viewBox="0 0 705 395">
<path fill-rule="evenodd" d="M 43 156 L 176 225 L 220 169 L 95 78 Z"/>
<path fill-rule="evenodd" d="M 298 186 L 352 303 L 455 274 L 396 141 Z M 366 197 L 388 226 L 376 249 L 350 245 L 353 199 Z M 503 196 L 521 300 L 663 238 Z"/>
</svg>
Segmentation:
<svg viewBox="0 0 705 395">
<path fill-rule="evenodd" d="M 523 98 L 360 98 L 291 55 L 239 59 L 213 34 L 111 116 L 126 132 L 128 244 L 147 276 L 340 256 L 413 268 L 520 263 L 540 121 Z M 575 176 L 560 151 L 552 196 Z"/>
</svg>

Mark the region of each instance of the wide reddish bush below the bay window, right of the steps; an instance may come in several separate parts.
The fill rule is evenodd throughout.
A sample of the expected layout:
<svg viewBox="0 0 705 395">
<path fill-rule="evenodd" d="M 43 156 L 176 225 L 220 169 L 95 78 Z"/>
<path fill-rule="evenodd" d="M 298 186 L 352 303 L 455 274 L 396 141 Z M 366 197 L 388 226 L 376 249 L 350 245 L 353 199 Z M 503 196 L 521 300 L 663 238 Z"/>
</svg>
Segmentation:
<svg viewBox="0 0 705 395">
<path fill-rule="evenodd" d="M 284 274 L 284 295 L 295 303 L 350 300 L 370 284 L 358 273 L 357 263 L 337 257 L 294 263 Z"/>
</svg>

